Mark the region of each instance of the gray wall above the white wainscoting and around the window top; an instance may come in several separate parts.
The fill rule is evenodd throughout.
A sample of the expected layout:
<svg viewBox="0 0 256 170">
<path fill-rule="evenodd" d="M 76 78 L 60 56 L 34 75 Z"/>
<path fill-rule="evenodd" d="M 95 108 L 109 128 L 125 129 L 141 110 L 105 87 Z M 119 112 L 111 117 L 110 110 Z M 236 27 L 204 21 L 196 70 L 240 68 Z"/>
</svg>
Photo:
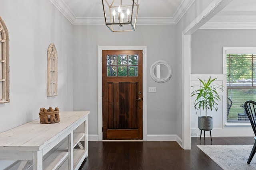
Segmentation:
<svg viewBox="0 0 256 170">
<path fill-rule="evenodd" d="M 255 46 L 255 29 L 198 29 L 191 36 L 191 74 L 222 74 L 223 47 Z"/>
</svg>

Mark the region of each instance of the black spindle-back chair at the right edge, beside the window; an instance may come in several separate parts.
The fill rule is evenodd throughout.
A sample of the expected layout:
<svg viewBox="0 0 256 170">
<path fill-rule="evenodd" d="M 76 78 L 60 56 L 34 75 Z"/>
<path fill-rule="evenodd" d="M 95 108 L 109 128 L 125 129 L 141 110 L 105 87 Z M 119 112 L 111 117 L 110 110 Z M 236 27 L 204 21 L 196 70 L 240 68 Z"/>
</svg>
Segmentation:
<svg viewBox="0 0 256 170">
<path fill-rule="evenodd" d="M 254 135 L 256 136 L 256 102 L 254 101 L 247 101 L 244 103 L 244 109 L 246 111 L 246 114 L 250 120 L 250 123 L 252 125 L 252 130 L 254 131 Z M 250 162 L 252 161 L 252 158 L 256 152 L 256 137 L 254 137 L 255 143 L 252 147 L 252 151 L 251 154 L 247 160 L 247 164 L 250 164 Z"/>
</svg>

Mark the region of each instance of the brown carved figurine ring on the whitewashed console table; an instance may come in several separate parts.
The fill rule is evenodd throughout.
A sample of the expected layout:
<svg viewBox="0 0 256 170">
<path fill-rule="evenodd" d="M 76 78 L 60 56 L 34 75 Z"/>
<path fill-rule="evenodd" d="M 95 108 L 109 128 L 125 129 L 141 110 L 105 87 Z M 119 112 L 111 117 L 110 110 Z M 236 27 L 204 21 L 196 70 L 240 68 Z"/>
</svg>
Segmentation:
<svg viewBox="0 0 256 170">
<path fill-rule="evenodd" d="M 52 107 L 49 107 L 49 109 L 40 108 L 39 111 L 39 118 L 40 123 L 42 124 L 50 124 L 50 123 L 58 123 L 60 122 L 60 111 L 58 107 L 55 107 L 53 109 Z"/>
</svg>

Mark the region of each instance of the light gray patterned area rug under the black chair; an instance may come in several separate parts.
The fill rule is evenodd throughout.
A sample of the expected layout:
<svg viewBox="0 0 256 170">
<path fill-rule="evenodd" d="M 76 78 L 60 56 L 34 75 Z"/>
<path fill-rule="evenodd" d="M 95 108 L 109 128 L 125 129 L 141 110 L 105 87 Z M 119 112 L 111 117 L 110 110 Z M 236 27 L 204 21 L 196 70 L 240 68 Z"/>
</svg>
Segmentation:
<svg viewBox="0 0 256 170">
<path fill-rule="evenodd" d="M 250 164 L 247 160 L 253 145 L 198 145 L 224 170 L 256 170 L 256 154 Z"/>
</svg>

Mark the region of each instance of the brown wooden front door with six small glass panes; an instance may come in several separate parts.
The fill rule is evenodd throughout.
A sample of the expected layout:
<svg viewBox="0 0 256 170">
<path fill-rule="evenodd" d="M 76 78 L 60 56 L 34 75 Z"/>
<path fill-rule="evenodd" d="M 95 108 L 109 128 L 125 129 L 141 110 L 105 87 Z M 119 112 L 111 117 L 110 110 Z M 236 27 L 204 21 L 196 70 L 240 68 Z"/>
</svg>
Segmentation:
<svg viewBox="0 0 256 170">
<path fill-rule="evenodd" d="M 142 50 L 102 51 L 102 132 L 142 139 Z"/>
</svg>

